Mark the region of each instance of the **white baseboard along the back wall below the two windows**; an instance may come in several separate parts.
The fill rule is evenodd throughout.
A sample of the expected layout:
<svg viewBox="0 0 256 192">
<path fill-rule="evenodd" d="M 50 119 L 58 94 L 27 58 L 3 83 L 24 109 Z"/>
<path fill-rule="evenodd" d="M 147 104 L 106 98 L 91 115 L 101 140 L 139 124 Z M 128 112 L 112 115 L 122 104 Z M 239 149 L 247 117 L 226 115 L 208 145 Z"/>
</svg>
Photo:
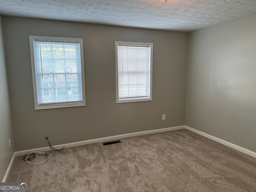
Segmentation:
<svg viewBox="0 0 256 192">
<path fill-rule="evenodd" d="M 184 129 L 185 126 L 176 126 L 176 127 L 168 127 L 168 128 L 162 128 L 162 129 L 155 129 L 155 130 L 148 130 L 148 131 L 140 131 L 140 132 L 135 132 L 135 133 L 127 133 L 127 134 L 122 134 L 122 135 L 115 135 L 115 136 L 109 136 L 109 137 L 103 137 L 103 138 L 97 138 L 97 139 L 91 139 L 91 140 L 85 140 L 85 141 L 79 141 L 79 142 L 73 142 L 73 143 L 66 143 L 66 144 L 60 144 L 60 145 L 54 145 L 54 148 L 60 149 L 63 146 L 65 148 L 69 147 L 75 147 L 75 146 L 81 146 L 81 145 L 87 145 L 87 144 L 93 144 L 93 143 L 98 143 L 98 142 L 106 142 L 110 140 L 116 140 L 116 139 L 122 139 L 122 138 L 127 138 L 127 137 L 134 137 L 134 136 L 140 136 L 140 135 L 146 135 L 146 134 L 153 134 L 153 133 L 160 133 L 160 132 L 166 132 L 166 131 L 172 131 L 172 130 L 178 130 L 178 129 Z M 23 151 L 17 151 L 15 152 L 16 156 L 24 155 L 28 152 L 45 152 L 49 150 L 48 147 L 41 147 L 41 148 L 35 148 L 35 149 L 30 149 L 30 150 L 23 150 Z"/>
</svg>

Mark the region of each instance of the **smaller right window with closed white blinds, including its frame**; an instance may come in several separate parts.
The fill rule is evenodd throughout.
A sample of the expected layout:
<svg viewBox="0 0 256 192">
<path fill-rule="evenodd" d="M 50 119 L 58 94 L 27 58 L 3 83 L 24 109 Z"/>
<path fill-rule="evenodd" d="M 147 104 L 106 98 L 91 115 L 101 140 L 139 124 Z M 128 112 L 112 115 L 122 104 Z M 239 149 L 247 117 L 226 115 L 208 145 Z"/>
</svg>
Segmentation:
<svg viewBox="0 0 256 192">
<path fill-rule="evenodd" d="M 116 103 L 152 100 L 152 43 L 116 41 Z"/>
</svg>

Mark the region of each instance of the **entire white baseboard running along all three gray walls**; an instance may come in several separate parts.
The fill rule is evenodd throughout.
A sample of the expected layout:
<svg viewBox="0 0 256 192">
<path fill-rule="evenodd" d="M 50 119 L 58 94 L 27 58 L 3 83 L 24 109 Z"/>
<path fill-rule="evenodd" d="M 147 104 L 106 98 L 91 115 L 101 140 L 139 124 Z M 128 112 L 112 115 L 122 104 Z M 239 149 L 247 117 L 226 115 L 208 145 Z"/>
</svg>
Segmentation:
<svg viewBox="0 0 256 192">
<path fill-rule="evenodd" d="M 230 148 L 233 148 L 235 150 L 238 150 L 242 153 L 245 153 L 247 155 L 250 155 L 254 158 L 256 158 L 256 153 L 252 152 L 248 149 L 242 148 L 240 146 L 237 146 L 235 144 L 232 144 L 230 142 L 227 142 L 225 140 L 222 140 L 220 138 L 211 136 L 209 134 L 206 134 L 202 131 L 196 130 L 194 128 L 191 128 L 189 126 L 183 125 L 183 126 L 176 126 L 176 127 L 169 127 L 169 128 L 162 128 L 162 129 L 155 129 L 155 130 L 148 130 L 148 131 L 141 131 L 141 132 L 134 132 L 134 133 L 128 133 L 128 134 L 121 134 L 121 135 L 116 135 L 116 136 L 109 136 L 109 137 L 104 137 L 104 138 L 97 138 L 97 139 L 91 139 L 91 140 L 85 140 L 85 141 L 79 141 L 79 142 L 73 142 L 73 143 L 67 143 L 67 144 L 60 144 L 60 145 L 55 145 L 53 146 L 54 148 L 60 149 L 63 146 L 65 146 L 66 148 L 68 147 L 75 147 L 75 146 L 81 146 L 81 145 L 87 145 L 87 144 L 93 144 L 93 143 L 98 143 L 98 142 L 106 142 L 106 141 L 110 141 L 110 140 L 118 140 L 118 139 L 122 139 L 122 138 L 128 138 L 128 137 L 134 137 L 134 136 L 140 136 L 140 135 L 146 135 L 146 134 L 153 134 L 153 133 L 160 133 L 160 132 L 166 132 L 166 131 L 173 131 L 173 130 L 179 130 L 179 129 L 187 129 L 190 130 L 192 132 L 195 132 L 197 134 L 200 134 L 206 138 L 212 139 L 216 142 L 219 142 L 221 144 L 224 144 Z M 6 179 L 8 177 L 8 174 L 10 172 L 10 169 L 12 167 L 12 164 L 14 162 L 14 159 L 16 156 L 21 156 L 24 155 L 28 152 L 45 152 L 49 150 L 49 146 L 48 147 L 42 147 L 42 148 L 34 148 L 34 149 L 30 149 L 30 150 L 23 150 L 23 151 L 16 151 L 14 152 L 11 162 L 7 168 L 6 174 L 4 176 L 4 179 L 2 182 L 6 182 Z"/>
</svg>

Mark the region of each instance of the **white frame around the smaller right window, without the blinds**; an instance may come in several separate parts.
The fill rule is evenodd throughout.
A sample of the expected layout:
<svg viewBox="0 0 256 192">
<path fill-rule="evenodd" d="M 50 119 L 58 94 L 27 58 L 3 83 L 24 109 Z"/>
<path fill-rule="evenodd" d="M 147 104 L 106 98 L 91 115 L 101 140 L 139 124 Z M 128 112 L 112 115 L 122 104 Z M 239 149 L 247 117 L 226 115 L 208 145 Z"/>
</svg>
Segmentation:
<svg viewBox="0 0 256 192">
<path fill-rule="evenodd" d="M 150 95 L 148 98 L 118 98 L 118 44 L 128 45 L 128 46 L 150 46 Z M 143 43 L 143 42 L 123 42 L 115 41 L 115 53 L 116 53 L 116 103 L 127 103 L 127 102 L 140 102 L 140 101 L 151 101 L 152 100 L 152 68 L 153 68 L 153 43 Z"/>
</svg>

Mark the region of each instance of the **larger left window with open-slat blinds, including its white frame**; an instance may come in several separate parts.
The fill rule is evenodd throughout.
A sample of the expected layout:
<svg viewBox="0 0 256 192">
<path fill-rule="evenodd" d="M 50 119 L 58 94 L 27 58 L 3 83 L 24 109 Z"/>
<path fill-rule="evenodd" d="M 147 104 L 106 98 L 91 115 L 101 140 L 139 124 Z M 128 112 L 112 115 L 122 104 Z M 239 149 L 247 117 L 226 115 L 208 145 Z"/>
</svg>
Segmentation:
<svg viewBox="0 0 256 192">
<path fill-rule="evenodd" d="M 29 39 L 35 110 L 85 106 L 82 39 Z"/>
</svg>

